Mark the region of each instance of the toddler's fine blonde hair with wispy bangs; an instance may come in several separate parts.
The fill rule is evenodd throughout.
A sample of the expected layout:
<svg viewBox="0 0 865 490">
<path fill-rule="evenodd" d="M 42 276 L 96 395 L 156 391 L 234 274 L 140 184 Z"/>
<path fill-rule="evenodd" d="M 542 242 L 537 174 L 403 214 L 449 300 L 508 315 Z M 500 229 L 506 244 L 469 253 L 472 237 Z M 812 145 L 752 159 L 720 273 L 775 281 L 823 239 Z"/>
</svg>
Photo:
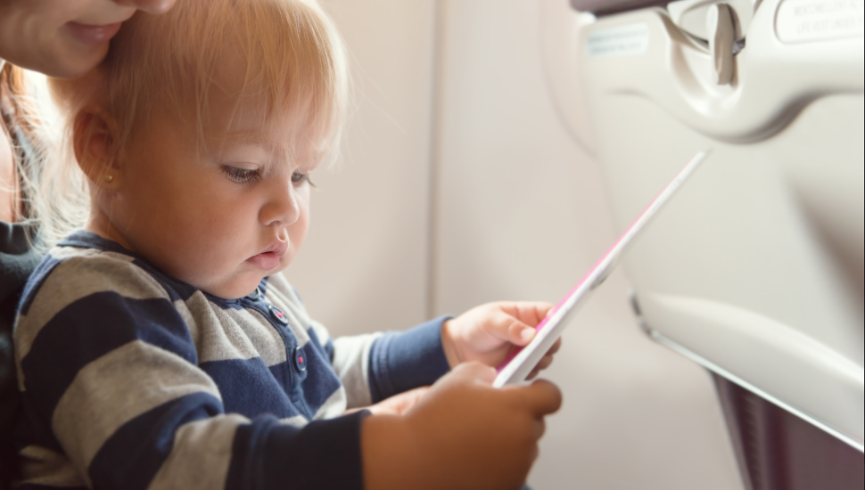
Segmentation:
<svg viewBox="0 0 865 490">
<path fill-rule="evenodd" d="M 78 80 L 49 81 L 66 118 L 62 155 L 38 192 L 43 238 L 54 243 L 79 227 L 89 211 L 86 176 L 71 158 L 78 112 L 96 105 L 117 123 L 122 152 L 147 124 L 154 105 L 194 130 L 207 145 L 210 95 L 227 55 L 243 66 L 236 104 L 263 102 L 262 123 L 290 115 L 299 131 L 284 142 L 291 156 L 334 159 L 345 116 L 348 73 L 342 40 L 314 0 L 182 0 L 161 15 L 138 12 L 123 24 L 105 60 Z M 120 158 L 121 155 L 116 155 Z"/>
</svg>

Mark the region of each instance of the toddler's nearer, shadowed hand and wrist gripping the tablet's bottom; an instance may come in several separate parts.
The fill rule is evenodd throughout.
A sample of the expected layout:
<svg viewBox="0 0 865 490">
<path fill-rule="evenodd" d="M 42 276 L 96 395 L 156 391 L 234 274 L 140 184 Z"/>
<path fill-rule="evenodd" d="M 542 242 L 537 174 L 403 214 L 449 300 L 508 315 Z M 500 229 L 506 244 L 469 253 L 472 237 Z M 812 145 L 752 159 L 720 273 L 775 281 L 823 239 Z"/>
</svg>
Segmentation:
<svg viewBox="0 0 865 490">
<path fill-rule="evenodd" d="M 361 429 L 368 490 L 502 490 L 523 486 L 543 417 L 562 396 L 548 381 L 492 388 L 496 372 L 465 363 L 405 416 L 368 417 Z"/>
</svg>

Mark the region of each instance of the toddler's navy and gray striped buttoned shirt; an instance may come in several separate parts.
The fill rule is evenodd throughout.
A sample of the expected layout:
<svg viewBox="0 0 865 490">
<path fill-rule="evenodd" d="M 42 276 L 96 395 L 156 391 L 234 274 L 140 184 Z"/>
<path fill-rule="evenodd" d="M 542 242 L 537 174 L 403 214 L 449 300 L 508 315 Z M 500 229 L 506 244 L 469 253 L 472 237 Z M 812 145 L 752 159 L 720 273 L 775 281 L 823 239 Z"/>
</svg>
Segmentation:
<svg viewBox="0 0 865 490">
<path fill-rule="evenodd" d="M 447 372 L 443 321 L 331 339 L 281 275 L 216 298 L 73 233 L 15 325 L 21 488 L 362 488 L 342 413 Z"/>
</svg>

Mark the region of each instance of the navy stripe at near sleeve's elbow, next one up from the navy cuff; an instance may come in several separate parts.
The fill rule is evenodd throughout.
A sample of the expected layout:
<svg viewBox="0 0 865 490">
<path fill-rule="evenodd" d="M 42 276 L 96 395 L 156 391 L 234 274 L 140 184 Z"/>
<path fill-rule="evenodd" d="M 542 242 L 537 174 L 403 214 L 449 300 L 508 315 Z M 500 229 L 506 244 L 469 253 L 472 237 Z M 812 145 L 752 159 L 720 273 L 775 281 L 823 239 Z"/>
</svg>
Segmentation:
<svg viewBox="0 0 865 490">
<path fill-rule="evenodd" d="M 123 424 L 96 453 L 87 473 L 94 488 L 145 490 L 169 457 L 182 425 L 222 413 L 209 393 L 181 396 Z"/>
</svg>

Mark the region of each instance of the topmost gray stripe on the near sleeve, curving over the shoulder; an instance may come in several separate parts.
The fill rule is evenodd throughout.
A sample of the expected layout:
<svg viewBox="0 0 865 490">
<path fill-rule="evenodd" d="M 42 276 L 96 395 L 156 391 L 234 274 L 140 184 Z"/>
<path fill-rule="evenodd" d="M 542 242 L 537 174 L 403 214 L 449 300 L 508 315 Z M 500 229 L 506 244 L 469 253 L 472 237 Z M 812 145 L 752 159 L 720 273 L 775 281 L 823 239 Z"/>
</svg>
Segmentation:
<svg viewBox="0 0 865 490">
<path fill-rule="evenodd" d="M 28 314 L 21 315 L 15 326 L 15 362 L 21 391 L 24 390 L 21 359 L 28 355 L 33 340 L 45 323 L 66 306 L 103 291 L 114 291 L 136 299 L 168 298 L 160 283 L 133 265 L 131 257 L 70 247 L 52 249 L 50 254 L 52 257 L 67 258 L 54 267 L 54 271 L 39 288 Z"/>
</svg>

